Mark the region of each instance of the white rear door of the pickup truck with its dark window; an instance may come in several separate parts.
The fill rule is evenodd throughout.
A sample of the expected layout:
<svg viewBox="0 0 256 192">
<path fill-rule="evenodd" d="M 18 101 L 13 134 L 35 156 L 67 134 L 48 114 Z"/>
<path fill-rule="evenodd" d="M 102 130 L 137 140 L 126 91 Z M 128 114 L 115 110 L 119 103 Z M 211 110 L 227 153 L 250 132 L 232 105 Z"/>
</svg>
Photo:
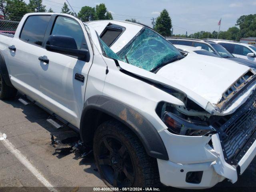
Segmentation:
<svg viewBox="0 0 256 192">
<path fill-rule="evenodd" d="M 50 15 L 28 16 L 20 34 L 16 33 L 10 43 L 16 49 L 10 50 L 8 62 L 12 84 L 35 100 L 39 95 L 38 53 L 45 50 L 42 42 L 50 18 Z"/>
</svg>

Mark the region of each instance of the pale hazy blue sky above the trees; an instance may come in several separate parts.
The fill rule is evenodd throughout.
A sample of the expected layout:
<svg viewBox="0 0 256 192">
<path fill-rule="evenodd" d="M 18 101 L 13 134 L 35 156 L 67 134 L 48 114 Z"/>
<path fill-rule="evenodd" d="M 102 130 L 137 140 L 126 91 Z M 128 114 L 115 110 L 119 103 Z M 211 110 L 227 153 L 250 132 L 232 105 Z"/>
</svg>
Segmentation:
<svg viewBox="0 0 256 192">
<path fill-rule="evenodd" d="M 29 0 L 25 0 L 29 2 Z M 60 12 L 66 0 L 43 0 L 48 10 Z M 75 12 L 82 6 L 95 7 L 104 3 L 114 20 L 136 18 L 152 27 L 152 18 L 157 18 L 166 9 L 172 19 L 174 34 L 192 34 L 201 30 L 218 31 L 235 26 L 236 20 L 246 14 L 256 14 L 256 0 L 68 0 Z"/>
</svg>

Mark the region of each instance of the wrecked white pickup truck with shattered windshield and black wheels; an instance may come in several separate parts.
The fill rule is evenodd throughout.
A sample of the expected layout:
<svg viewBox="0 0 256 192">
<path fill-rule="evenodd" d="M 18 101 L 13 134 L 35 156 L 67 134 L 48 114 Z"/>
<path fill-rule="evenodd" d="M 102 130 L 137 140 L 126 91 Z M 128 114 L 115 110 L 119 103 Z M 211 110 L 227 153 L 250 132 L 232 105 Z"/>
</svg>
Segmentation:
<svg viewBox="0 0 256 192">
<path fill-rule="evenodd" d="M 0 98 L 79 131 L 107 186 L 234 183 L 256 155 L 255 73 L 142 24 L 26 14 L 0 35 L 0 72 Z"/>
</svg>

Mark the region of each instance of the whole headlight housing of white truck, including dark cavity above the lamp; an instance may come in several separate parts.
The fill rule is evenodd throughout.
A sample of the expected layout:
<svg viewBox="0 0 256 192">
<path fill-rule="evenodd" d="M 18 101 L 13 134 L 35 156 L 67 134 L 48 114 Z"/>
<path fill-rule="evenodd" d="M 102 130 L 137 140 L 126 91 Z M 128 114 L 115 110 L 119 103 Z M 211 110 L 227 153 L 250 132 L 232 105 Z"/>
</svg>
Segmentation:
<svg viewBox="0 0 256 192">
<path fill-rule="evenodd" d="M 166 124 L 168 131 L 172 134 L 208 136 L 209 134 L 216 133 L 216 130 L 208 123 L 206 116 L 187 115 L 179 109 L 181 109 L 180 106 L 166 102 L 160 102 L 156 108 L 158 116 L 162 119 L 164 124 Z M 190 109 L 190 112 L 191 111 Z M 196 113 L 196 111 L 194 113 Z"/>
</svg>

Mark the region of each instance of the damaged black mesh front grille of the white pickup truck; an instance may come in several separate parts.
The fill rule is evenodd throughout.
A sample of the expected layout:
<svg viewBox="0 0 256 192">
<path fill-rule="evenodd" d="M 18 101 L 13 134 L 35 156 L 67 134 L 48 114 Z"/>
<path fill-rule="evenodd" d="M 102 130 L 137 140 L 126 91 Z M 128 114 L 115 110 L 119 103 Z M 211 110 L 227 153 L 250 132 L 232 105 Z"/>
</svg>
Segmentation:
<svg viewBox="0 0 256 192">
<path fill-rule="evenodd" d="M 236 165 L 256 138 L 256 92 L 231 115 L 212 116 L 226 162 Z"/>
</svg>

